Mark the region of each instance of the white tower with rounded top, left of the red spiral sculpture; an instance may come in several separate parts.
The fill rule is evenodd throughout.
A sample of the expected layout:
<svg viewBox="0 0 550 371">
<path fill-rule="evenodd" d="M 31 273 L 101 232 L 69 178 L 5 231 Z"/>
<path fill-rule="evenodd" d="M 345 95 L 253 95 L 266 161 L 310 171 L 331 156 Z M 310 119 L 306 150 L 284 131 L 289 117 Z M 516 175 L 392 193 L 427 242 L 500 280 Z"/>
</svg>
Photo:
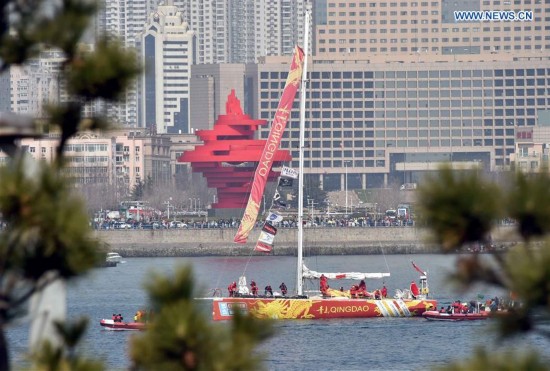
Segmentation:
<svg viewBox="0 0 550 371">
<path fill-rule="evenodd" d="M 140 123 L 159 134 L 189 133 L 189 78 L 195 34 L 177 7 L 161 5 L 141 35 Z"/>
</svg>

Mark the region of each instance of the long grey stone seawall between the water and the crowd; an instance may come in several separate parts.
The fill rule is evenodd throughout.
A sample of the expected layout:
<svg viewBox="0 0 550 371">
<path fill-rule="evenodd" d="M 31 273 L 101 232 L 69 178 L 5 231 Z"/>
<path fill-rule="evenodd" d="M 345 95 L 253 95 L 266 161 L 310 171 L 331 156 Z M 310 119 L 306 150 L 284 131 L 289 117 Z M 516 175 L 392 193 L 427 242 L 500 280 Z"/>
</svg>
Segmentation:
<svg viewBox="0 0 550 371">
<path fill-rule="evenodd" d="M 233 243 L 236 229 L 153 229 L 96 231 L 97 238 L 125 257 L 250 255 L 260 233 L 254 229 L 249 242 Z M 295 255 L 298 231 L 281 228 L 275 237 L 273 255 Z M 512 226 L 492 234 L 496 246 L 520 239 Z M 333 227 L 304 229 L 304 247 L 316 255 L 414 254 L 438 252 L 427 230 L 414 227 Z M 263 253 L 257 253 L 263 255 Z"/>
</svg>

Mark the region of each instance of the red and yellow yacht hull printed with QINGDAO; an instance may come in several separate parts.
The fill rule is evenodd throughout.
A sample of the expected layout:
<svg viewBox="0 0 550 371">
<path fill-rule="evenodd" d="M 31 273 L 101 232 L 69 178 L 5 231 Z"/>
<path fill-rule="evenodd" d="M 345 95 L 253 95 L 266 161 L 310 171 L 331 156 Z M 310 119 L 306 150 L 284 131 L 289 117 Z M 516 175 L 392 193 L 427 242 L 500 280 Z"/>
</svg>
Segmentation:
<svg viewBox="0 0 550 371">
<path fill-rule="evenodd" d="M 330 319 L 418 317 L 437 308 L 431 299 L 349 299 L 349 298 L 214 298 L 212 318 L 227 320 L 239 310 L 256 318 Z"/>
</svg>

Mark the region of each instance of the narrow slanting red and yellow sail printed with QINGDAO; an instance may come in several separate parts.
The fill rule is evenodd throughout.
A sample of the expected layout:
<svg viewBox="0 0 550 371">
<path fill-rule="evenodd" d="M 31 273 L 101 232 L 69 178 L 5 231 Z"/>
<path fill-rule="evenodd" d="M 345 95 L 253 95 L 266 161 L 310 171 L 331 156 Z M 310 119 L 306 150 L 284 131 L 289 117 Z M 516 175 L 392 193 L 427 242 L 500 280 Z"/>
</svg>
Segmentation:
<svg viewBox="0 0 550 371">
<path fill-rule="evenodd" d="M 292 57 L 292 63 L 290 64 L 290 71 L 286 79 L 285 88 L 283 90 L 283 94 L 281 95 L 273 123 L 271 124 L 271 130 L 269 131 L 269 136 L 267 137 L 267 142 L 262 152 L 260 162 L 258 163 L 256 172 L 254 173 L 254 181 L 252 183 L 248 203 L 241 220 L 241 225 L 239 226 L 239 230 L 233 239 L 236 243 L 246 243 L 248 235 L 252 231 L 252 228 L 254 228 L 254 224 L 258 218 L 260 201 L 264 193 L 267 177 L 271 171 L 271 167 L 273 166 L 273 157 L 281 143 L 281 138 L 283 137 L 283 133 L 288 122 L 288 117 L 290 116 L 292 103 L 294 102 L 296 92 L 300 86 L 303 63 L 304 52 L 300 47 L 296 46 L 294 56 Z"/>
</svg>

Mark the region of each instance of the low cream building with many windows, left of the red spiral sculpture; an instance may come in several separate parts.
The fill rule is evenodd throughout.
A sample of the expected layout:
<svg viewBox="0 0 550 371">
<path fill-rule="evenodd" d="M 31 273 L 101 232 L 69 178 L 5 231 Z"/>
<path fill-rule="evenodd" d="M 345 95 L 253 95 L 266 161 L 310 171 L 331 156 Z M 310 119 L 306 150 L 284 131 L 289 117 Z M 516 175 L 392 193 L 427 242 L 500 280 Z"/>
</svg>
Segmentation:
<svg viewBox="0 0 550 371">
<path fill-rule="evenodd" d="M 56 156 L 59 134 L 20 142 L 21 150 L 31 158 L 50 162 Z M 64 171 L 77 186 L 111 185 L 122 198 L 140 182 L 150 181 L 154 186 L 171 184 L 176 156 L 196 143 L 194 135 L 151 135 L 144 129 L 79 133 L 67 142 Z M 7 154 L 0 152 L 0 164 L 6 161 Z M 177 171 L 185 169 L 182 164 Z"/>
</svg>

